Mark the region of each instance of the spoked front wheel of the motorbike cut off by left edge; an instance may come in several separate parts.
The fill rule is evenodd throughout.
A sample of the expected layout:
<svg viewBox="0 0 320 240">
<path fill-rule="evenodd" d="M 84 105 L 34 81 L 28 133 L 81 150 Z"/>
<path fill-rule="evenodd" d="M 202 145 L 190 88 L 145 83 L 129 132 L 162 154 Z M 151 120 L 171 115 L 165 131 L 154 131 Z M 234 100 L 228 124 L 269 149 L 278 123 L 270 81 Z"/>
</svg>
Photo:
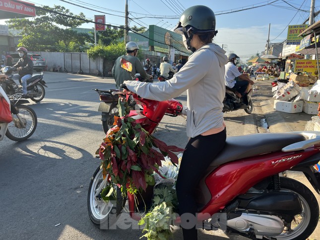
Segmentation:
<svg viewBox="0 0 320 240">
<path fill-rule="evenodd" d="M 23 141 L 29 138 L 36 130 L 38 119 L 32 108 L 25 105 L 17 105 L 19 117 L 13 115 L 13 120 L 8 123 L 8 128 L 5 132 L 7 138 L 12 141 Z"/>
</svg>

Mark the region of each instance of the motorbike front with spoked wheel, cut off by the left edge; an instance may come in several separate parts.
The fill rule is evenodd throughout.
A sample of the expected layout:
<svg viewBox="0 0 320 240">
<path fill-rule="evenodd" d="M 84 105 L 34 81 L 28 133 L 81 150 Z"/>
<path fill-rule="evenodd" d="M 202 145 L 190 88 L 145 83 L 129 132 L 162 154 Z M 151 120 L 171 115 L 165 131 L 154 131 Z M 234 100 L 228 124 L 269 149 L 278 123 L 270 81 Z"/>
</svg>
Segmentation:
<svg viewBox="0 0 320 240">
<path fill-rule="evenodd" d="M 7 138 L 17 142 L 28 139 L 36 130 L 38 123 L 34 110 L 29 106 L 23 105 L 29 103 L 29 101 L 25 99 L 9 99 L 1 86 L 0 96 L 3 96 L 10 104 L 12 114 L 11 122 L 0 123 L 0 140 L 3 139 L 4 134 Z"/>
</svg>

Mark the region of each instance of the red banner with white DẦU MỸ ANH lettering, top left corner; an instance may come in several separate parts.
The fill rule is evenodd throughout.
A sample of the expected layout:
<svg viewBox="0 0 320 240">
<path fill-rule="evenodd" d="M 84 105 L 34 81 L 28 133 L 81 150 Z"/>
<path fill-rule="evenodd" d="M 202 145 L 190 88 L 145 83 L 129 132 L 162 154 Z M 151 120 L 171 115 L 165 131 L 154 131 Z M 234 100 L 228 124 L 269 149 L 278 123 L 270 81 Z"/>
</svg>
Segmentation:
<svg viewBox="0 0 320 240">
<path fill-rule="evenodd" d="M 25 5 L 23 3 L 28 3 L 28 5 Z M 34 5 L 29 2 L 16 2 L 16 1 L 10 1 L 10 0 L 0 0 L 0 10 L 7 11 L 7 12 L 14 12 L 19 13 L 31 17 L 36 16 L 36 9 L 30 5 Z"/>
</svg>

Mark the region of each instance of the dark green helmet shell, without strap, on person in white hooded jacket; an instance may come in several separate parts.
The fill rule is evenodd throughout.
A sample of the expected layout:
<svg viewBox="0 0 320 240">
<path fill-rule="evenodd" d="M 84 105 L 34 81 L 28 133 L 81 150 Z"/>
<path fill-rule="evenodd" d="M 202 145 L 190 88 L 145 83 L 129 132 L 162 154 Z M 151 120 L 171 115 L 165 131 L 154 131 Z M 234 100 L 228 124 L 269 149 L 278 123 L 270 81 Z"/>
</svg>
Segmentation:
<svg viewBox="0 0 320 240">
<path fill-rule="evenodd" d="M 214 32 L 214 12 L 209 7 L 203 5 L 189 7 L 182 13 L 174 31 L 176 32 L 181 27 L 185 27 L 187 30 L 189 27 L 192 27 L 193 33 Z"/>
</svg>

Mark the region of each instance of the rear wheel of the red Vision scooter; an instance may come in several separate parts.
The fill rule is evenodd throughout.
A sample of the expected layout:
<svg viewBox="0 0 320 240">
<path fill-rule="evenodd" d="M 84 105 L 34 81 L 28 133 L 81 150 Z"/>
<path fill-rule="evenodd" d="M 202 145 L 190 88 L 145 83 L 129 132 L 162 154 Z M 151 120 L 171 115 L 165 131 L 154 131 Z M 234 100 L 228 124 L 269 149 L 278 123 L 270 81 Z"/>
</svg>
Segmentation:
<svg viewBox="0 0 320 240">
<path fill-rule="evenodd" d="M 295 216 L 291 223 L 285 224 L 282 234 L 275 236 L 277 240 L 302 240 L 315 231 L 319 221 L 319 205 L 315 195 L 304 184 L 289 178 L 280 178 L 281 191 L 298 194 L 302 205 L 302 213 Z"/>
</svg>

